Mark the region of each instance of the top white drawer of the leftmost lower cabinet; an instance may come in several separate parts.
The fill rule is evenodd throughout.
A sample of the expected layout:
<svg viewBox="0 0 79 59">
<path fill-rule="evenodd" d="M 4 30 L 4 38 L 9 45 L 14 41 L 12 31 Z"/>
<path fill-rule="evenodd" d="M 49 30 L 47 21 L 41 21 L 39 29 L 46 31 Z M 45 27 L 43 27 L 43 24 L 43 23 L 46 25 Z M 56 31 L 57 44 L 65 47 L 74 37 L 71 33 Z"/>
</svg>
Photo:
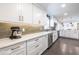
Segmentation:
<svg viewBox="0 0 79 59">
<path fill-rule="evenodd" d="M 16 51 L 20 50 L 23 47 L 26 48 L 26 42 L 17 43 L 15 45 L 2 48 L 2 49 L 0 49 L 0 55 L 11 54 L 13 52 L 16 52 Z"/>
</svg>

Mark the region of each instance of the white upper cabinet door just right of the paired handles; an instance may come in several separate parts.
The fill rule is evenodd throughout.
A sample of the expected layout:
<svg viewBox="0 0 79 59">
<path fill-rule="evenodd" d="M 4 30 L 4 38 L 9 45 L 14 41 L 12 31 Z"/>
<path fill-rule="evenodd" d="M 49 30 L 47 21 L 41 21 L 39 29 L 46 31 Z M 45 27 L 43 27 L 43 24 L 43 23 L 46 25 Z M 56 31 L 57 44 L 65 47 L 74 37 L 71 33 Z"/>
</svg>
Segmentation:
<svg viewBox="0 0 79 59">
<path fill-rule="evenodd" d="M 22 8 L 23 22 L 32 24 L 32 4 L 24 3 Z"/>
</svg>

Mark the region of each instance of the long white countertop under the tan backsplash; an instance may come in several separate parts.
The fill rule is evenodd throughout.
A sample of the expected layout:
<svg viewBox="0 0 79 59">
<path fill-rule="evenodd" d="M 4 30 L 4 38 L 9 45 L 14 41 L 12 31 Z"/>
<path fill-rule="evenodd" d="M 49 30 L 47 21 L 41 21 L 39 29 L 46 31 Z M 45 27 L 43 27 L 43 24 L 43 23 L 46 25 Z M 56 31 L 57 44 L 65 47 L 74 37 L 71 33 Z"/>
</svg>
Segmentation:
<svg viewBox="0 0 79 59">
<path fill-rule="evenodd" d="M 38 33 L 33 33 L 33 34 L 27 34 L 27 35 L 23 35 L 22 38 L 20 38 L 20 39 L 13 39 L 13 40 L 11 40 L 9 38 L 3 38 L 3 39 L 0 39 L 0 48 L 14 45 L 16 43 L 27 41 L 27 40 L 30 40 L 30 39 L 33 39 L 33 38 L 36 38 L 39 36 L 43 36 L 43 35 L 52 33 L 52 32 L 53 31 L 43 31 L 43 32 L 38 32 Z"/>
</svg>

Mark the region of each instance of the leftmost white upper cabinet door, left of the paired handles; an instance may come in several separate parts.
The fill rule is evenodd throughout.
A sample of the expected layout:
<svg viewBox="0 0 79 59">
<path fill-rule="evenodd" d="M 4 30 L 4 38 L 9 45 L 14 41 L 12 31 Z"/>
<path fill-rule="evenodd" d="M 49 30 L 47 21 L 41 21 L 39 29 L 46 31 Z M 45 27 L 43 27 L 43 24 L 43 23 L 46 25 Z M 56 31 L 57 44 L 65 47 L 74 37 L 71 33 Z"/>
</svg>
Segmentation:
<svg viewBox="0 0 79 59">
<path fill-rule="evenodd" d="M 0 21 L 18 21 L 18 8 L 16 3 L 0 4 Z"/>
</svg>

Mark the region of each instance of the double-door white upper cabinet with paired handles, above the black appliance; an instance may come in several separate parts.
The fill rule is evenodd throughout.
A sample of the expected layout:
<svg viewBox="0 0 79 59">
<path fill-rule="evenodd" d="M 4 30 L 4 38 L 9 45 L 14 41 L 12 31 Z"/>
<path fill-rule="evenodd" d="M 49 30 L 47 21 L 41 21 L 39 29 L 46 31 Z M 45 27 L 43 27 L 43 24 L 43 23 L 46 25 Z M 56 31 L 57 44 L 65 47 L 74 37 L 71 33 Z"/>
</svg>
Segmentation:
<svg viewBox="0 0 79 59">
<path fill-rule="evenodd" d="M 2 3 L 0 7 L 0 21 L 32 24 L 31 3 Z"/>
</svg>

